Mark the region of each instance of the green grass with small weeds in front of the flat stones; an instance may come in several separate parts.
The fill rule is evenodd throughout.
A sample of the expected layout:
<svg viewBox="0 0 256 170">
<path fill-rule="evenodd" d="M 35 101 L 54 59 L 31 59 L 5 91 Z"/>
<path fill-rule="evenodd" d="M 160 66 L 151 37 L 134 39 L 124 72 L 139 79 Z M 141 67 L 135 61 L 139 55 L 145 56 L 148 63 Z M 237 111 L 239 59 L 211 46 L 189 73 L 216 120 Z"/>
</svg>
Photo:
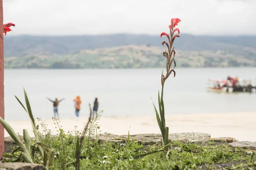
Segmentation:
<svg viewBox="0 0 256 170">
<path fill-rule="evenodd" d="M 44 136 L 41 143 L 56 151 L 50 170 L 74 170 L 76 167 L 76 136 L 74 132 L 58 136 Z M 75 132 L 78 134 L 79 132 Z M 32 140 L 32 148 L 35 141 Z M 183 143 L 170 142 L 169 152 L 157 152 L 143 158 L 135 156 L 161 149 L 157 145 L 143 146 L 136 141 L 114 144 L 92 142 L 88 137 L 81 147 L 81 169 L 103 170 L 188 170 L 188 169 L 254 169 L 256 154 L 248 155 L 244 149 L 234 148 L 226 142 Z M 13 148 L 13 150 L 16 147 Z M 24 161 L 20 151 L 4 153 L 3 162 Z M 38 150 L 35 150 L 35 162 L 41 164 Z"/>
</svg>

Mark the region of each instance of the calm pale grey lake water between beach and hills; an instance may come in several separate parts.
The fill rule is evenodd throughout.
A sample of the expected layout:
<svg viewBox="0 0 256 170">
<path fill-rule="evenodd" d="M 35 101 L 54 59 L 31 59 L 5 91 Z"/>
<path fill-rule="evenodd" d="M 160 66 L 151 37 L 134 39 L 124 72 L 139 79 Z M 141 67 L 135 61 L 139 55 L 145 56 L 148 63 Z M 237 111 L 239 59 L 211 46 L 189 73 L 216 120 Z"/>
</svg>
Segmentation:
<svg viewBox="0 0 256 170">
<path fill-rule="evenodd" d="M 6 120 L 28 120 L 15 99 L 24 104 L 26 89 L 36 117 L 51 119 L 52 102 L 59 104 L 61 118 L 75 117 L 73 99 L 81 96 L 80 116 L 88 116 L 88 103 L 99 100 L 102 116 L 154 115 L 151 97 L 157 105 L 161 90 L 162 69 L 5 69 Z M 256 68 L 177 68 L 176 77 L 166 80 L 164 102 L 166 114 L 227 113 L 256 111 L 256 94 L 216 94 L 206 91 L 209 78 L 239 76 L 256 82 Z"/>
</svg>

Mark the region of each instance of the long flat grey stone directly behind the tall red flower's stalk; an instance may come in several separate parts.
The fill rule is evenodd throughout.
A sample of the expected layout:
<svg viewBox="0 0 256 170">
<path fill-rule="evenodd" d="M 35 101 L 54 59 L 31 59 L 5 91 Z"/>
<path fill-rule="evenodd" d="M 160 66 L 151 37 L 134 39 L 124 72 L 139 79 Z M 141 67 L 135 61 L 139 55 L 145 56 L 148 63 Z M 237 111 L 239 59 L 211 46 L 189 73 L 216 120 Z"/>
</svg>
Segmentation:
<svg viewBox="0 0 256 170">
<path fill-rule="evenodd" d="M 170 141 L 182 141 L 182 142 L 208 142 L 210 135 L 208 133 L 171 133 L 169 134 Z M 128 135 L 114 135 L 111 133 L 101 133 L 99 135 L 91 136 L 93 140 L 99 139 L 99 143 L 110 141 L 114 143 L 125 143 L 128 141 Z M 135 134 L 130 135 L 130 141 L 137 141 L 144 145 L 160 144 L 162 139 L 161 134 L 146 133 L 146 134 Z M 163 139 L 162 139 L 163 142 Z"/>
</svg>

